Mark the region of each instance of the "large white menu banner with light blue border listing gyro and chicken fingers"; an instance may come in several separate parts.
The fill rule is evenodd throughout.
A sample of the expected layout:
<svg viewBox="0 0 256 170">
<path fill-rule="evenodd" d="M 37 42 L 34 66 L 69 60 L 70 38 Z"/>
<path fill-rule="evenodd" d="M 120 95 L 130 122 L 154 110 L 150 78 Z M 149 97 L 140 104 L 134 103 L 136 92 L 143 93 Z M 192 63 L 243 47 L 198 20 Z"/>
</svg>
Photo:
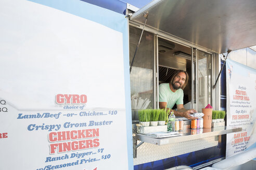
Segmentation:
<svg viewBox="0 0 256 170">
<path fill-rule="evenodd" d="M 4 0 L 0 22 L 0 169 L 131 169 L 125 16 Z"/>
</svg>

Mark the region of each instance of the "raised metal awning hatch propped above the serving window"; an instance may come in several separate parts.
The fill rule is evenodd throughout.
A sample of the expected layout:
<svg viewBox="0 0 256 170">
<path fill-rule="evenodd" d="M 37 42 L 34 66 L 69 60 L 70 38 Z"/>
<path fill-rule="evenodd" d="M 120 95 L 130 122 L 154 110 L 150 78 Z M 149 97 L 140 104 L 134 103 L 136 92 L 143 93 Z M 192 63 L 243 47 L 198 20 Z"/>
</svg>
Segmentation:
<svg viewBox="0 0 256 170">
<path fill-rule="evenodd" d="M 255 0 L 155 0 L 131 20 L 195 47 L 224 53 L 256 45 Z"/>
</svg>

